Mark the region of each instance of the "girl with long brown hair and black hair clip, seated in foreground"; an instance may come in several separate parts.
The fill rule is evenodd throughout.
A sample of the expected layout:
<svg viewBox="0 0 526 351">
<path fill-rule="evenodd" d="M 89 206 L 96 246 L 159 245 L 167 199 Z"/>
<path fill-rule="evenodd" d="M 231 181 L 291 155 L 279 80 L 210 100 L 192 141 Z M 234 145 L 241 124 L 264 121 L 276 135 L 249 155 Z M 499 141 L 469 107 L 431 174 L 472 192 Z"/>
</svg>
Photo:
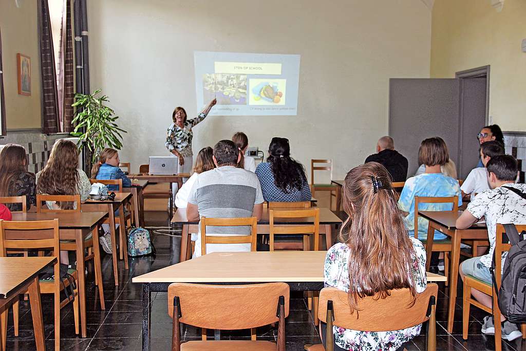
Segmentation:
<svg viewBox="0 0 526 351">
<path fill-rule="evenodd" d="M 358 313 L 361 296 L 386 297 L 389 290 L 400 288 L 409 288 L 415 297 L 423 292 L 426 250 L 408 235 L 387 169 L 376 162 L 351 169 L 343 184 L 342 204 L 349 217 L 340 232 L 341 243 L 327 252 L 325 286 L 348 292 L 351 313 Z M 334 326 L 335 350 L 403 350 L 420 328 L 372 333 Z M 325 338 L 325 330 L 321 334 Z"/>
</svg>

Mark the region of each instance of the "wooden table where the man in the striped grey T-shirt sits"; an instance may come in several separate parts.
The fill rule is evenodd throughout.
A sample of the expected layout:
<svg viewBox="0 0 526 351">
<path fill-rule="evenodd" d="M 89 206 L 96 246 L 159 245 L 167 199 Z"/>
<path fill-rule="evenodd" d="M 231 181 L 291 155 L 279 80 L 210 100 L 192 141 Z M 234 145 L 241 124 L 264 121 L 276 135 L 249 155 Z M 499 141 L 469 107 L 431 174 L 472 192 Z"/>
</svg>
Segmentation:
<svg viewBox="0 0 526 351">
<path fill-rule="evenodd" d="M 335 215 L 329 208 L 317 207 L 320 209 L 320 229 L 325 229 L 324 231 L 320 230 L 320 233 L 325 232 L 325 242 L 327 247 L 332 246 L 332 225 L 341 224 L 341 219 Z M 279 210 L 279 208 L 275 208 Z M 282 208 L 284 210 L 292 210 L 295 208 Z M 305 208 L 301 208 L 305 209 Z M 279 225 L 283 224 L 312 224 L 313 218 L 277 218 L 275 223 Z M 171 219 L 171 224 L 180 224 L 183 225 L 183 232 L 181 233 L 181 252 L 179 257 L 179 262 L 183 262 L 190 258 L 190 235 L 189 233 L 198 233 L 199 230 L 199 220 L 188 220 L 186 218 L 186 208 L 181 208 L 181 210 L 176 211 L 174 217 Z M 263 213 L 261 214 L 261 219 L 258 220 L 258 233 L 268 233 L 269 225 L 269 209 L 264 207 Z M 323 227 L 322 227 L 323 226 Z"/>
</svg>

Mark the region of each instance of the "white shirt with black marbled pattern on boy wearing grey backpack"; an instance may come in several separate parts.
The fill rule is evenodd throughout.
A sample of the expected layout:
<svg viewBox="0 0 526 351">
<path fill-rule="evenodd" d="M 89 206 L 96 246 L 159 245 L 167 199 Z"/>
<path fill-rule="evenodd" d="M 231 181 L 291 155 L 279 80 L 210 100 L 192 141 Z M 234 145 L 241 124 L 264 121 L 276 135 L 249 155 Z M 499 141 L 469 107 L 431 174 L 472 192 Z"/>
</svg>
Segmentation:
<svg viewBox="0 0 526 351">
<path fill-rule="evenodd" d="M 504 186 L 513 187 L 526 193 L 526 184 L 508 183 Z M 502 186 L 484 190 L 471 200 L 468 211 L 476 218 L 485 217 L 488 227 L 488 238 L 490 241 L 490 252 L 481 257 L 480 262 L 490 268 L 495 249 L 495 237 L 497 236 L 497 224 L 526 224 L 526 200 L 512 190 Z M 505 257 L 508 253 L 503 253 Z"/>
</svg>

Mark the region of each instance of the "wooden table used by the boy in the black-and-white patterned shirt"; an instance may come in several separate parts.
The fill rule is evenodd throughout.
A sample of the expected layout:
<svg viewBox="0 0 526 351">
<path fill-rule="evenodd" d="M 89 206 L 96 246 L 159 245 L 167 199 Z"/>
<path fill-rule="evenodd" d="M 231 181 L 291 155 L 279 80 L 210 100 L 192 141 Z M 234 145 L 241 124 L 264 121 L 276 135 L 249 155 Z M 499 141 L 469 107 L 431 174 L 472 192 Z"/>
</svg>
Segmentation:
<svg viewBox="0 0 526 351">
<path fill-rule="evenodd" d="M 429 220 L 428 236 L 426 243 L 427 264 L 429 269 L 431 252 L 433 249 L 434 230 L 451 237 L 451 259 L 449 276 L 449 311 L 448 311 L 448 333 L 453 332 L 453 320 L 455 314 L 455 299 L 457 298 L 457 282 L 460 265 L 460 242 L 464 239 L 488 240 L 486 224 L 475 224 L 468 229 L 457 229 L 457 218 L 462 211 L 419 211 L 418 215 Z"/>
</svg>

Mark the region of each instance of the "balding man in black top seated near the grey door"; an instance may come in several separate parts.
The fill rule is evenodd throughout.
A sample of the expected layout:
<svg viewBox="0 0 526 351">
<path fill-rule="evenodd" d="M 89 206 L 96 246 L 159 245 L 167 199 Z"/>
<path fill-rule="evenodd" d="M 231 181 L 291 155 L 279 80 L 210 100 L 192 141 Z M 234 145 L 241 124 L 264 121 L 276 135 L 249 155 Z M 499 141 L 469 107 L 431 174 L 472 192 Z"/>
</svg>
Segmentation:
<svg viewBox="0 0 526 351">
<path fill-rule="evenodd" d="M 407 178 L 407 158 L 395 150 L 395 142 L 390 136 L 382 136 L 376 144 L 377 154 L 370 155 L 365 163 L 378 162 L 386 167 L 393 182 L 405 182 Z"/>
</svg>

